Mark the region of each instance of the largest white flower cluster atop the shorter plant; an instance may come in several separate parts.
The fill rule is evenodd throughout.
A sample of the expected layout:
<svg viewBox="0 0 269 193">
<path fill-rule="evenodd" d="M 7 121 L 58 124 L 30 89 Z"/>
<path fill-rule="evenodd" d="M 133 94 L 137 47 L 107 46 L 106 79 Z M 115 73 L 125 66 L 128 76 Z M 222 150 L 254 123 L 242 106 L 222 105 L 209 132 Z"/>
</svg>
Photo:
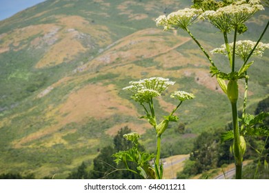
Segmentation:
<svg viewBox="0 0 269 193">
<path fill-rule="evenodd" d="M 139 103 L 149 102 L 152 98 L 161 96 L 161 92 L 175 82 L 161 77 L 152 77 L 140 81 L 130 81 L 130 86 L 123 88 L 132 92 L 131 98 Z"/>
</svg>

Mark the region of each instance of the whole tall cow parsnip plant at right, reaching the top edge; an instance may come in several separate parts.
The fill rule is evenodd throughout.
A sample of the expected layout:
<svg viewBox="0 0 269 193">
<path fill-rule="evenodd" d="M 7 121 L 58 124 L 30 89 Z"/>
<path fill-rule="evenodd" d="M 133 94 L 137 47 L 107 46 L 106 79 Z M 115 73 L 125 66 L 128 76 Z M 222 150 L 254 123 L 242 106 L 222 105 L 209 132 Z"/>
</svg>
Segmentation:
<svg viewBox="0 0 269 193">
<path fill-rule="evenodd" d="M 184 30 L 197 43 L 199 48 L 210 61 L 210 73 L 216 77 L 217 81 L 232 107 L 232 125 L 233 130 L 223 134 L 223 141 L 233 139 L 232 152 L 235 156 L 236 179 L 241 179 L 243 154 L 246 151 L 246 134 L 268 136 L 268 128 L 257 127 L 268 116 L 268 112 L 262 112 L 257 116 L 246 114 L 246 103 L 248 96 L 248 68 L 254 63 L 250 57 L 257 55 L 262 56 L 264 50 L 269 48 L 268 43 L 261 43 L 261 39 L 268 28 L 268 22 L 263 32 L 256 42 L 237 41 L 237 36 L 248 30 L 245 25 L 256 12 L 264 10 L 268 6 L 268 0 L 263 2 L 259 0 L 194 0 L 191 8 L 185 8 L 177 12 L 172 12 L 168 16 L 162 15 L 156 19 L 157 26 L 163 26 L 164 30 Z M 225 54 L 228 57 L 230 73 L 221 72 L 214 61 L 210 58 L 208 52 L 203 48 L 195 36 L 190 32 L 189 27 L 199 20 L 209 21 L 213 26 L 219 29 L 223 34 L 223 45 L 211 51 L 212 54 Z M 232 41 L 228 40 L 228 34 L 233 33 Z M 230 43 L 231 42 L 231 43 Z M 238 62 L 236 57 L 242 60 Z M 237 62 L 237 64 L 236 64 Z M 239 65 L 238 71 L 235 66 Z M 245 79 L 245 92 L 243 98 L 243 115 L 239 119 L 237 114 L 237 101 L 239 99 L 238 80 Z M 226 83 L 228 82 L 228 84 Z M 241 127 L 239 128 L 239 121 Z"/>
</svg>

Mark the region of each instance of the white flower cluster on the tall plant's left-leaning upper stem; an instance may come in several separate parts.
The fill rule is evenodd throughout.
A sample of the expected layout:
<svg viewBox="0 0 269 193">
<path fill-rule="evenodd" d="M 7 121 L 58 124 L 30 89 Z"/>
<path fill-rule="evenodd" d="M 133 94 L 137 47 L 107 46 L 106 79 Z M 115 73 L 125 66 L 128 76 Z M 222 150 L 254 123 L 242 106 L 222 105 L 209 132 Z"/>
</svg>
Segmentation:
<svg viewBox="0 0 269 193">
<path fill-rule="evenodd" d="M 200 16 L 202 10 L 197 10 L 195 8 L 185 8 L 183 10 L 178 10 L 177 12 L 172 12 L 158 17 L 156 21 L 157 26 L 163 26 L 164 30 L 176 30 L 181 28 L 185 30 L 190 26 L 195 20 Z"/>
</svg>

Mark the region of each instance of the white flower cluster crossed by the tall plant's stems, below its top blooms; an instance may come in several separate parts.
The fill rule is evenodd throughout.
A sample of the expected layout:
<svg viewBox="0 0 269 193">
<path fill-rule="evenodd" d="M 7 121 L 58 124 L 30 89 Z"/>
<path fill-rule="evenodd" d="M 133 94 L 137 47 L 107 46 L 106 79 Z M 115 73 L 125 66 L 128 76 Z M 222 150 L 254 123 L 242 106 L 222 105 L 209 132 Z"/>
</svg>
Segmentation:
<svg viewBox="0 0 269 193">
<path fill-rule="evenodd" d="M 251 50 L 255 47 L 257 42 L 255 41 L 250 41 L 250 40 L 244 40 L 244 41 L 237 41 L 235 43 L 235 55 L 239 58 L 241 58 L 243 61 L 248 58 L 248 55 L 250 54 Z M 229 43 L 231 50 L 233 50 L 233 45 L 234 43 Z M 252 53 L 253 55 L 262 57 L 262 54 L 264 50 L 269 48 L 269 43 L 261 43 L 257 45 L 256 49 Z M 226 45 L 223 44 L 221 45 L 220 48 L 216 48 L 211 51 L 212 54 L 224 54 L 228 55 L 227 50 L 226 50 Z"/>
</svg>

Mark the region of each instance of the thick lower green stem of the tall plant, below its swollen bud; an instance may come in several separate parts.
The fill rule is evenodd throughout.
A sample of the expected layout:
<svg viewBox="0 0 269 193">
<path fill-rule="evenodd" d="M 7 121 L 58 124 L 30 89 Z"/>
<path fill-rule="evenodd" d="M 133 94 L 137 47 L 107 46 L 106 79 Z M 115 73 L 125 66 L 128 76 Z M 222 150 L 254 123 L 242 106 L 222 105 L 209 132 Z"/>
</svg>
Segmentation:
<svg viewBox="0 0 269 193">
<path fill-rule="evenodd" d="M 240 148 L 240 134 L 237 114 L 237 102 L 231 102 L 232 105 L 232 127 L 234 131 L 234 155 L 235 155 L 235 166 L 236 166 L 236 179 L 242 178 L 242 161 L 243 157 Z"/>
</svg>

